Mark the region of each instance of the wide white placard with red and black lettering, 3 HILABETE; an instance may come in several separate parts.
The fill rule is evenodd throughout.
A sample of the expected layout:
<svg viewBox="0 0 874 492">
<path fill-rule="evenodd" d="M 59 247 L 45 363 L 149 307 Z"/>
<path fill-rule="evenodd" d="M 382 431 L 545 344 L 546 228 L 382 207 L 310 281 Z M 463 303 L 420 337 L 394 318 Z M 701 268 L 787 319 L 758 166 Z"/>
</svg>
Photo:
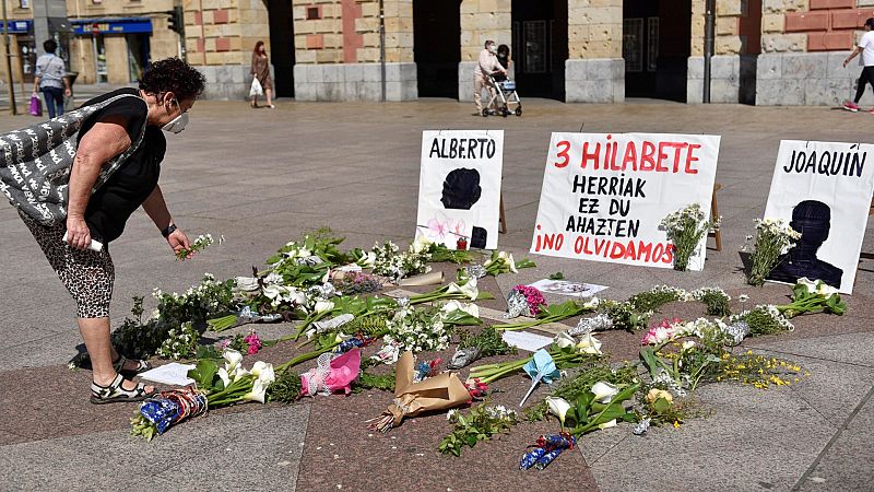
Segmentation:
<svg viewBox="0 0 874 492">
<path fill-rule="evenodd" d="M 709 215 L 719 136 L 553 133 L 531 253 L 672 268 L 659 224 L 692 203 Z M 705 235 L 689 270 L 701 270 Z"/>
</svg>

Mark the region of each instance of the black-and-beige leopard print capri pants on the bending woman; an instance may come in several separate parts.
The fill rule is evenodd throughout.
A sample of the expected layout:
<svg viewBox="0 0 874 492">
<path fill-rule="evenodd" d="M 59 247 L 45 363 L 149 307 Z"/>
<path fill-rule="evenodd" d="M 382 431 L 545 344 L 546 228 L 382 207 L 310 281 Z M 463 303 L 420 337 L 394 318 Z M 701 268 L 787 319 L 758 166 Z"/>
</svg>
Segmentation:
<svg viewBox="0 0 874 492">
<path fill-rule="evenodd" d="M 66 224 L 48 226 L 23 213 L 21 216 L 46 254 L 51 268 L 75 300 L 79 317 L 108 317 L 116 280 L 116 269 L 108 248 L 104 246 L 97 253 L 70 247 L 62 241 Z"/>
</svg>

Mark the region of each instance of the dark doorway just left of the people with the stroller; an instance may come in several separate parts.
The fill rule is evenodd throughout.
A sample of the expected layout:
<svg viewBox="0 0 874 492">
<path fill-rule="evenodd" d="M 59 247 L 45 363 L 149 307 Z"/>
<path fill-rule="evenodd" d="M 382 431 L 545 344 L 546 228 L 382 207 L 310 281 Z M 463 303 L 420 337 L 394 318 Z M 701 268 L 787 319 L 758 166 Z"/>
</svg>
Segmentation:
<svg viewBox="0 0 874 492">
<path fill-rule="evenodd" d="M 413 59 L 420 97 L 458 98 L 461 0 L 413 0 Z"/>
</svg>

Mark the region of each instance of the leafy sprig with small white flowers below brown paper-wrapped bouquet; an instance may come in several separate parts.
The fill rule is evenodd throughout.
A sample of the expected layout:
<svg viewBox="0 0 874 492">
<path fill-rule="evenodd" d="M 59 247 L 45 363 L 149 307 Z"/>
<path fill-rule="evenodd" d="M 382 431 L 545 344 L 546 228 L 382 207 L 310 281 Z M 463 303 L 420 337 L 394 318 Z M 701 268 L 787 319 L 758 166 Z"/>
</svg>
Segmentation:
<svg viewBox="0 0 874 492">
<path fill-rule="evenodd" d="M 464 446 L 473 447 L 495 434 L 509 432 L 519 421 L 519 415 L 503 405 L 484 401 L 472 408 L 466 415 L 451 410 L 447 419 L 453 425 L 452 432 L 440 441 L 437 449 L 445 455 L 461 456 Z"/>
</svg>

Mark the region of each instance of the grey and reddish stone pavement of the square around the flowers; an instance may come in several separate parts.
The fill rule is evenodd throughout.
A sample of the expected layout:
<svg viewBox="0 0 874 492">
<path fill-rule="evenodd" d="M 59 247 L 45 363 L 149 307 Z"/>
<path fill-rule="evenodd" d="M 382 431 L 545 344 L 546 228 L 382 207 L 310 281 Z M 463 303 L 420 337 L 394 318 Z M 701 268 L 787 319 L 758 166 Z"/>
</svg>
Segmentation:
<svg viewBox="0 0 874 492">
<path fill-rule="evenodd" d="M 536 269 L 489 279 L 503 296 L 512 285 L 564 271 L 603 283 L 604 296 L 668 283 L 721 286 L 751 303 L 780 302 L 788 290 L 744 285 L 739 254 L 753 220 L 764 212 L 780 139 L 870 141 L 874 117 L 827 108 L 565 105 L 523 101 L 521 118 L 471 116 L 468 104 L 280 102 L 198 103 L 189 128 L 168 137 L 162 189 L 189 235 L 227 239 L 191 261 L 176 262 L 154 225 L 138 212 L 113 243 L 117 280 L 113 316 L 123 318 L 132 295 L 153 288 L 184 291 L 204 271 L 246 274 L 285 242 L 330 226 L 347 247 L 375 241 L 405 244 L 416 215 L 424 129 L 505 130 L 504 198 L 509 232 L 500 248 L 527 256 L 551 131 L 686 132 L 722 136 L 717 180 L 723 250 L 709 250 L 701 272 L 534 257 Z M 0 117 L 0 131 L 35 122 Z M 442 415 L 412 419 L 387 435 L 364 420 L 390 397 L 369 391 L 319 397 L 293 406 L 246 405 L 186 422 L 152 443 L 128 435 L 133 405 L 92 406 L 90 374 L 66 363 L 81 343 L 74 305 L 26 227 L 0 204 L 0 480 L 4 490 L 872 490 L 874 480 L 874 263 L 862 260 L 843 317 L 796 318 L 795 331 L 748 340 L 763 353 L 800 362 L 802 384 L 766 391 L 713 385 L 698 391 L 709 418 L 646 436 L 627 426 L 590 434 L 581 453 L 542 472 L 516 470 L 527 444 L 554 423 L 522 424 L 497 441 L 442 457 Z M 872 233 L 863 250 L 874 250 Z M 501 308 L 500 301 L 493 307 Z M 151 309 L 151 305 L 147 308 Z M 742 306 L 732 306 L 740 311 Z M 698 316 L 670 305 L 663 316 Z M 658 319 L 659 315 L 656 315 Z M 259 326 L 272 338 L 287 325 Z M 208 333 L 209 335 L 209 333 Z M 637 356 L 637 335 L 600 337 L 614 361 Z M 280 345 L 259 354 L 272 362 L 297 353 Z M 306 366 L 302 367 L 305 368 Z M 519 401 L 527 379 L 499 382 L 499 402 Z M 541 390 L 542 394 L 542 390 Z"/>
</svg>

